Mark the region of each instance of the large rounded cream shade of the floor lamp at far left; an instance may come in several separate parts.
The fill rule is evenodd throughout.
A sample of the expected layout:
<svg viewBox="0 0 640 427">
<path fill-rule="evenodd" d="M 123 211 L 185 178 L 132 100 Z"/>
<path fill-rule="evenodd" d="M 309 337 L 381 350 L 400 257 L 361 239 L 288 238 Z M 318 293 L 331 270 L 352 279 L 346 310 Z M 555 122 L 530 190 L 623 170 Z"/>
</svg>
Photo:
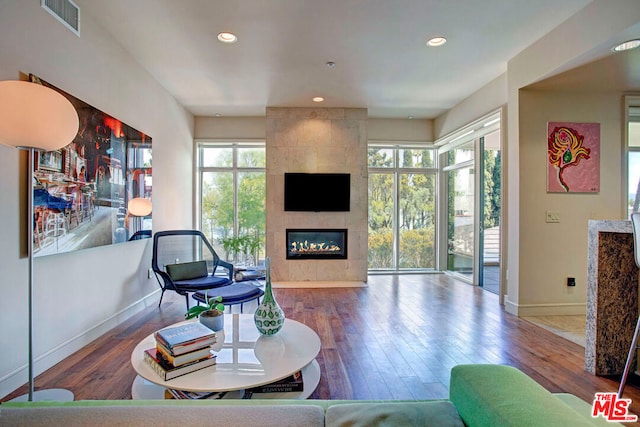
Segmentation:
<svg viewBox="0 0 640 427">
<path fill-rule="evenodd" d="M 19 80 L 0 81 L 0 144 L 58 150 L 78 133 L 78 113 L 62 94 Z"/>
</svg>

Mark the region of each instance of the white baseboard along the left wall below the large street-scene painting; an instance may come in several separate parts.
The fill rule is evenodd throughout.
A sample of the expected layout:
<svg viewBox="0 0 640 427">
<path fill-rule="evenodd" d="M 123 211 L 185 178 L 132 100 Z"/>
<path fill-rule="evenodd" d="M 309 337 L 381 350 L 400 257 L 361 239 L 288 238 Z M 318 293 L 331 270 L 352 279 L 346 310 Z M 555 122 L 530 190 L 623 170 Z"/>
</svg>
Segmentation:
<svg viewBox="0 0 640 427">
<path fill-rule="evenodd" d="M 92 328 L 69 338 L 65 342 L 37 357 L 33 362 L 34 377 L 40 375 L 42 372 L 46 371 L 56 363 L 64 360 L 66 357 L 69 357 L 98 337 L 104 335 L 111 329 L 128 320 L 131 316 L 148 307 L 149 304 L 157 304 L 157 294 L 159 292 L 159 289 L 153 291 L 149 295 L 133 302 L 129 306 L 115 313 L 108 319 L 105 319 Z M 25 363 L 24 365 L 18 367 L 14 371 L 0 378 L 0 396 L 6 396 L 24 385 L 29 377 L 28 369 L 29 366 Z"/>
</svg>

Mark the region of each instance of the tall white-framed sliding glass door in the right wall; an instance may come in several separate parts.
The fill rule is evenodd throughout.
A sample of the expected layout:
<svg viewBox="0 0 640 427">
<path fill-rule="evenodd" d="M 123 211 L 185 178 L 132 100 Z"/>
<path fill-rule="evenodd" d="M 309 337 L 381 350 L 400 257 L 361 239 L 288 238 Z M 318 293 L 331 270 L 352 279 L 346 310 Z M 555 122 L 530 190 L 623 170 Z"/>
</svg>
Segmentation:
<svg viewBox="0 0 640 427">
<path fill-rule="evenodd" d="M 437 141 L 443 227 L 440 268 L 500 292 L 500 114 Z"/>
</svg>

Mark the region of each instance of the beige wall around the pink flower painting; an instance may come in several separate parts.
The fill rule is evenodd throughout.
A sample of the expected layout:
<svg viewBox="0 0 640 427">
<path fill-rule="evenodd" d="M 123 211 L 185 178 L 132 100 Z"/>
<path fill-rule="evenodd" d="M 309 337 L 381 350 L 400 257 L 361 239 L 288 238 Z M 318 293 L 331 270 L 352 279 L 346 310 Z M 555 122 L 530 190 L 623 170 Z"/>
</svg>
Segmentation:
<svg viewBox="0 0 640 427">
<path fill-rule="evenodd" d="M 587 221 L 620 215 L 621 101 L 618 92 L 520 91 L 521 315 L 586 312 Z M 599 193 L 547 193 L 547 122 L 557 121 L 600 123 Z M 545 211 L 560 223 L 546 223 Z"/>
</svg>

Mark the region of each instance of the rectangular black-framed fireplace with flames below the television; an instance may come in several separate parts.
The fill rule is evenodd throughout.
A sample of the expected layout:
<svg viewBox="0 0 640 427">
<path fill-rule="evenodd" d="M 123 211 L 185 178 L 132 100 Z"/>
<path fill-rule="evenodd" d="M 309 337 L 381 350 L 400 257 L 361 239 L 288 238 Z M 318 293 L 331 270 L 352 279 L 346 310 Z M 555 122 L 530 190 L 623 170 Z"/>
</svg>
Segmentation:
<svg viewBox="0 0 640 427">
<path fill-rule="evenodd" d="M 347 259 L 347 229 L 287 229 L 287 259 Z"/>
</svg>

